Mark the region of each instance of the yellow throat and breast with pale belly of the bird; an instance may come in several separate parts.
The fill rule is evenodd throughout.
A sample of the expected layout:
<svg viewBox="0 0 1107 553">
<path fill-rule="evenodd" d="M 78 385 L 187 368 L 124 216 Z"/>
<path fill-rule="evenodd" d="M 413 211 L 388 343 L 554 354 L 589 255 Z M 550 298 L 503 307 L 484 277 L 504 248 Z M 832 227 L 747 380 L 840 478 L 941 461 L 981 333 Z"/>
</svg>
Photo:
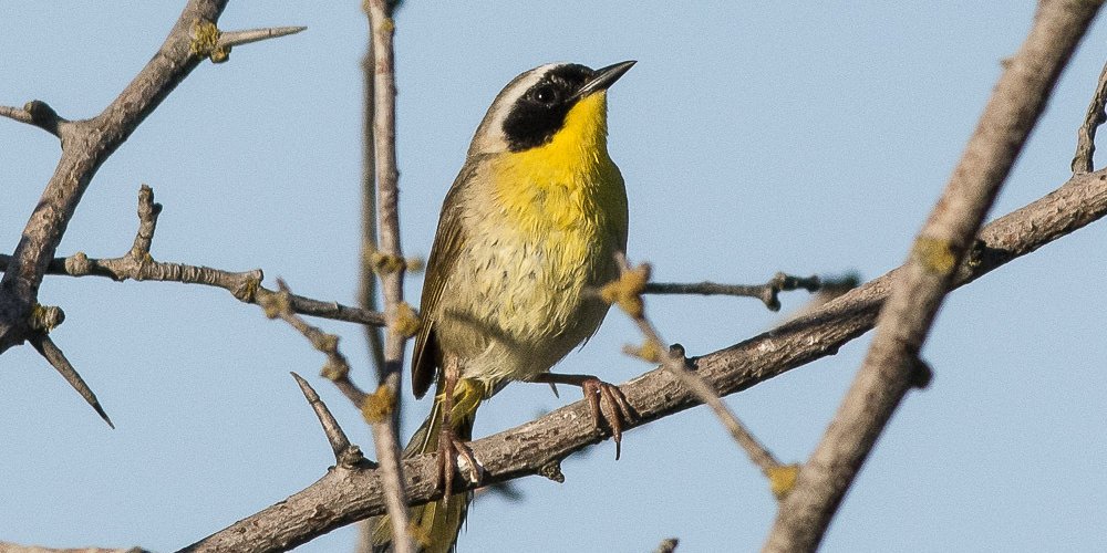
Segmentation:
<svg viewBox="0 0 1107 553">
<path fill-rule="evenodd" d="M 603 103 L 589 96 L 550 143 L 490 159 L 490 186 L 468 197 L 480 230 L 467 239 L 458 276 L 477 293 L 443 301 L 483 327 L 473 346 L 485 351 L 479 344 L 492 340 L 478 362 L 492 382 L 547 371 L 607 312 L 586 289 L 614 276 L 627 196 L 608 156 Z"/>
</svg>

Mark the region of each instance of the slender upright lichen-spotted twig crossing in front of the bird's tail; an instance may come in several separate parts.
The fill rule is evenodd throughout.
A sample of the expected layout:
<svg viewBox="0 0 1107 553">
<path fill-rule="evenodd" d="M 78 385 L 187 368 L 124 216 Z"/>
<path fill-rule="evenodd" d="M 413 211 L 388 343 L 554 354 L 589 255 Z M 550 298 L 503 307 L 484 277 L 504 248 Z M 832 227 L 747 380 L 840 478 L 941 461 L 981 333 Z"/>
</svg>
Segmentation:
<svg viewBox="0 0 1107 553">
<path fill-rule="evenodd" d="M 402 260 L 400 247 L 400 173 L 396 168 L 396 82 L 393 35 L 395 21 L 392 19 L 393 4 L 387 0 L 369 0 L 370 40 L 373 52 L 373 149 L 376 169 L 376 213 L 377 244 L 380 253 L 393 260 Z M 393 263 L 393 270 L 380 272 L 384 295 L 384 312 L 389 330 L 384 336 L 384 365 L 380 372 L 380 388 L 374 397 L 376 413 L 385 416 L 373 424 L 373 441 L 376 457 L 382 467 L 389 519 L 392 524 L 392 549 L 394 553 L 415 551 L 407 534 L 407 492 L 400 463 L 400 432 L 397 414 L 401 409 L 401 371 L 404 364 L 404 344 L 407 335 L 400 332 L 402 304 L 404 302 L 404 263 Z M 410 310 L 408 310 L 410 311 Z M 362 413 L 371 409 L 363 408 Z M 369 418 L 369 417 L 366 417 Z"/>
</svg>

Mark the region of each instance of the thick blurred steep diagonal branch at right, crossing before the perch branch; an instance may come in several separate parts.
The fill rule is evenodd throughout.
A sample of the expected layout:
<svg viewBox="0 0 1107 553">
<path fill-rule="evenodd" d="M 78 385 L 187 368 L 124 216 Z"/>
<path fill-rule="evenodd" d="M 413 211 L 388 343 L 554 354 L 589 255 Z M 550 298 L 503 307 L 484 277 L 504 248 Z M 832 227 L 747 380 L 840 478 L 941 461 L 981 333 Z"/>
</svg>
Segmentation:
<svg viewBox="0 0 1107 553">
<path fill-rule="evenodd" d="M 915 238 L 857 378 L 780 504 L 764 551 L 815 551 L 903 396 L 962 259 L 1098 2 L 1045 0 L 1011 60 L 945 191 Z M 928 378 L 929 379 L 929 378 Z"/>
</svg>

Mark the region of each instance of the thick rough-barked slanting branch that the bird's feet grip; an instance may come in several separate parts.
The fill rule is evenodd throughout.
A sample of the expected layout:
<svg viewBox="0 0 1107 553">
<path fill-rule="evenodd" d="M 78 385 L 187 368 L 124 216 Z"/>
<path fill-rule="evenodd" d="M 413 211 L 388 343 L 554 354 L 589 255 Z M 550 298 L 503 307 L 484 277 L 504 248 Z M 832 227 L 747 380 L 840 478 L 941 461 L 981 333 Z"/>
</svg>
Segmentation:
<svg viewBox="0 0 1107 553">
<path fill-rule="evenodd" d="M 1048 196 L 983 229 L 980 246 L 961 267 L 962 285 L 1025 255 L 1107 213 L 1107 171 L 1074 177 Z M 690 359 L 696 373 L 720 395 L 748 388 L 800 365 L 835 354 L 872 327 L 877 311 L 900 270 L 842 294 L 798 317 L 725 349 Z M 655 369 L 624 384 L 622 390 L 639 414 L 640 426 L 697 405 L 676 378 Z M 517 428 L 473 442 L 487 470 L 483 484 L 536 474 L 602 440 L 586 401 L 577 401 Z M 441 495 L 434 488 L 436 460 L 421 456 L 405 461 L 410 500 L 423 503 Z M 353 521 L 381 514 L 384 500 L 374 471 L 335 469 L 318 482 L 273 507 L 186 547 L 185 551 L 270 551 L 288 549 Z M 245 529 L 272 530 L 259 541 L 242 540 Z"/>
</svg>

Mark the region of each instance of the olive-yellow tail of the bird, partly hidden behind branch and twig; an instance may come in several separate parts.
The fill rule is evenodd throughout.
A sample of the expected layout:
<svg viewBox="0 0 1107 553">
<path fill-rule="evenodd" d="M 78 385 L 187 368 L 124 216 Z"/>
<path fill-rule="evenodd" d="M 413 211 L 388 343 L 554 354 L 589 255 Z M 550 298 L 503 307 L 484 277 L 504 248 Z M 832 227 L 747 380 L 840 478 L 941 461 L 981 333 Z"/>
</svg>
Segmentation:
<svg viewBox="0 0 1107 553">
<path fill-rule="evenodd" d="M 439 386 L 441 388 L 441 386 Z M 485 386 L 477 380 L 462 378 L 454 387 L 454 406 L 451 409 L 451 426 L 454 436 L 462 441 L 473 439 L 473 421 L 476 420 L 477 407 L 485 397 Z M 404 458 L 438 450 L 438 436 L 442 431 L 442 408 L 444 394 L 439 390 L 434 396 L 431 415 L 415 430 Z M 448 504 L 443 500 L 413 507 L 407 510 L 407 532 L 421 553 L 447 553 L 454 550 L 457 532 L 465 521 L 472 493 L 462 492 L 449 497 Z M 373 553 L 384 553 L 392 547 L 392 521 L 387 515 L 375 517 L 369 521 L 373 532 Z"/>
</svg>

